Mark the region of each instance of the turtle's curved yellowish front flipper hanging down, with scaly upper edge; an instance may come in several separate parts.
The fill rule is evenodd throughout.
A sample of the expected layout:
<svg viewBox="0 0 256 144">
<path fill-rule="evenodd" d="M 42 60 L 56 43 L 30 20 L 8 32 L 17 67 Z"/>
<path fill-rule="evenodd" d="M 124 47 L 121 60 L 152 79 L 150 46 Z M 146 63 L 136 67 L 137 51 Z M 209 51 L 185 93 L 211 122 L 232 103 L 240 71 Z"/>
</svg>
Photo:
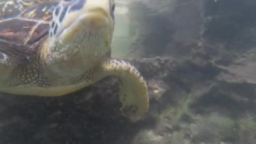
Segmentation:
<svg viewBox="0 0 256 144">
<path fill-rule="evenodd" d="M 102 64 L 107 75 L 114 75 L 119 80 L 122 115 L 137 121 L 149 108 L 147 84 L 139 71 L 125 61 L 109 59 Z"/>
</svg>

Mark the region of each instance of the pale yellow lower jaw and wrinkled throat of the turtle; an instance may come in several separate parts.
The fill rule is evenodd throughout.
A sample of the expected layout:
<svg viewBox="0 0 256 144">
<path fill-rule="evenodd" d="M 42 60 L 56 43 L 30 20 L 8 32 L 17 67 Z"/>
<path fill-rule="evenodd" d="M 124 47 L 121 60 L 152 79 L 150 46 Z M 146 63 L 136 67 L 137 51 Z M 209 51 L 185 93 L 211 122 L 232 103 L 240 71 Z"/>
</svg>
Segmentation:
<svg viewBox="0 0 256 144">
<path fill-rule="evenodd" d="M 96 8 L 79 16 L 60 32 L 53 52 L 67 61 L 99 59 L 109 52 L 112 34 L 107 14 L 103 9 Z"/>
</svg>

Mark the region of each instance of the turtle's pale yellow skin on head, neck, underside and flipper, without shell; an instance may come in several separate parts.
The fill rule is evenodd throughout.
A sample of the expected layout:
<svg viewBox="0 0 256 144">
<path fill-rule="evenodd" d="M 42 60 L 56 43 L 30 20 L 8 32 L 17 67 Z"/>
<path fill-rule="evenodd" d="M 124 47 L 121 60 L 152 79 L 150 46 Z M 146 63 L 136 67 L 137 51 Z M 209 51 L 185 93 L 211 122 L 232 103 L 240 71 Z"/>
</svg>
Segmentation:
<svg viewBox="0 0 256 144">
<path fill-rule="evenodd" d="M 32 1 L 32 0 L 31 0 Z M 50 0 L 49 0 L 50 1 Z M 114 0 L 61 1 L 63 20 L 53 14 L 49 36 L 42 38 L 37 54 L 17 63 L 11 55 L 0 59 L 0 91 L 18 95 L 62 96 L 84 88 L 108 75 L 120 82 L 123 115 L 136 121 L 149 108 L 146 81 L 131 64 L 111 59 Z M 74 4 L 75 3 L 75 4 Z M 69 9 L 68 9 L 69 10 Z M 57 10 L 53 11 L 56 13 Z M 51 35 L 50 35 L 51 34 Z M 1 52 L 0 54 L 4 54 Z"/>
</svg>

